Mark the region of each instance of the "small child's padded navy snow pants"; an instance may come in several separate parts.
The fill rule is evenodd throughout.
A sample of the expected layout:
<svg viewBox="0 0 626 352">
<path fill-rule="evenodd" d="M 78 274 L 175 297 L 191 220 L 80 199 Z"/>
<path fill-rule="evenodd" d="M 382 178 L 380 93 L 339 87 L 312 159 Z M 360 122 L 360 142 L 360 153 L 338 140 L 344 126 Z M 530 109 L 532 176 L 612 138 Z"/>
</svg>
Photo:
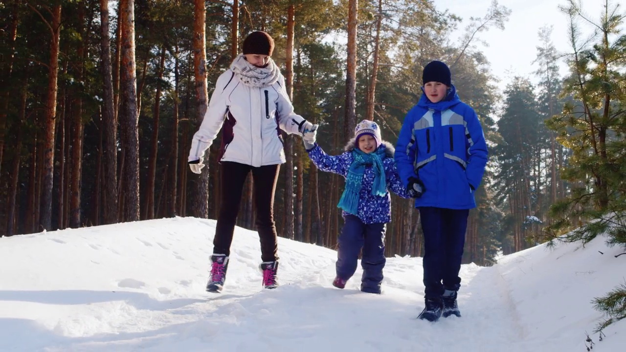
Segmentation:
<svg viewBox="0 0 626 352">
<path fill-rule="evenodd" d="M 386 224 L 364 224 L 355 215 L 346 215 L 339 236 L 337 276 L 350 279 L 356 271 L 359 251 L 363 248 L 361 291 L 380 293 L 382 268 L 385 266 Z"/>
</svg>

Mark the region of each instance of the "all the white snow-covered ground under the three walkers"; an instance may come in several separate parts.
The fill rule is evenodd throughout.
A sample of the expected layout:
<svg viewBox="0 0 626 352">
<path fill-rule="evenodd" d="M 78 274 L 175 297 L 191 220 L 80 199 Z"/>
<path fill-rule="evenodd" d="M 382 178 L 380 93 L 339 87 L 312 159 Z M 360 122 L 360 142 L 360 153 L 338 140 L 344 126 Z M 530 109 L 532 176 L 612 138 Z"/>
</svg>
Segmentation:
<svg viewBox="0 0 626 352">
<path fill-rule="evenodd" d="M 223 292 L 205 292 L 214 232 L 177 217 L 0 238 L 0 351 L 570 352 L 587 333 L 595 352 L 626 346 L 626 319 L 593 333 L 590 301 L 625 282 L 603 237 L 463 265 L 463 317 L 429 323 L 421 258 L 388 258 L 380 295 L 358 290 L 360 268 L 340 290 L 335 251 L 279 238 L 281 286 L 263 290 L 257 234 L 240 228 Z"/>
</svg>

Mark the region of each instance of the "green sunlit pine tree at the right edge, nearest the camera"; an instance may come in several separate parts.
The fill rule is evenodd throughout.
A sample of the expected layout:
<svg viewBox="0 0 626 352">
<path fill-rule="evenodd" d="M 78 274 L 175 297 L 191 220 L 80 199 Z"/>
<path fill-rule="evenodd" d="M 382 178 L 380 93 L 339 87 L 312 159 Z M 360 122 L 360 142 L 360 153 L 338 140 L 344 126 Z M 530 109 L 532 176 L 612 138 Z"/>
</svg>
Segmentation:
<svg viewBox="0 0 626 352">
<path fill-rule="evenodd" d="M 572 182 L 572 193 L 552 207 L 558 219 L 548 230 L 560 232 L 579 227 L 590 219 L 609 220 L 626 210 L 624 192 L 624 146 L 626 135 L 626 34 L 621 26 L 624 14 L 608 1 L 592 46 L 582 43 L 577 19 L 586 17 L 574 1 L 562 9 L 570 18 L 570 44 L 573 55 L 568 61 L 570 76 L 563 90 L 572 97 L 563 113 L 553 116 L 548 126 L 558 133 L 557 140 L 571 150 L 563 179 Z M 588 224 L 573 232 L 570 240 L 589 241 L 608 222 Z M 602 224 L 604 226 L 602 227 Z"/>
</svg>

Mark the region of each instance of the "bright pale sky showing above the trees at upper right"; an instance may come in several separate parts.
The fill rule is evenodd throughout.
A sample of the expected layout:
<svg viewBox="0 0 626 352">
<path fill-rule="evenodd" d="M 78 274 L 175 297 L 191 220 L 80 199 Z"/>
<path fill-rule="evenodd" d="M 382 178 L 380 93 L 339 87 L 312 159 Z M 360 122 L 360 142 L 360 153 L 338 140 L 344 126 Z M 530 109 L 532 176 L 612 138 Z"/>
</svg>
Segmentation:
<svg viewBox="0 0 626 352">
<path fill-rule="evenodd" d="M 437 8 L 449 9 L 451 13 L 463 18 L 463 24 L 456 31 L 458 35 L 451 38 L 453 40 L 463 36 L 470 17 L 482 18 L 491 6 L 491 0 L 434 0 L 434 3 Z M 582 8 L 590 18 L 598 19 L 602 3 L 600 0 L 582 0 Z M 621 3 L 623 11 L 626 0 L 613 0 L 613 4 L 618 3 Z M 536 83 L 533 73 L 536 65 L 532 63 L 536 58 L 536 47 L 540 45 L 538 36 L 540 28 L 553 26 L 552 42 L 557 51 L 560 53 L 572 51 L 567 32 L 569 19 L 558 9 L 560 5 L 565 6 L 567 0 L 499 0 L 498 4 L 511 10 L 505 29 L 492 27 L 489 31 L 479 33 L 480 39 L 486 41 L 489 46 L 478 44 L 478 48 L 490 61 L 494 76 L 500 79 L 497 86 L 501 91 L 513 76 L 525 76 Z M 587 35 L 592 33 L 586 24 L 582 24 L 581 28 Z M 563 62 L 560 71 L 562 76 L 567 73 L 567 67 Z"/>
</svg>

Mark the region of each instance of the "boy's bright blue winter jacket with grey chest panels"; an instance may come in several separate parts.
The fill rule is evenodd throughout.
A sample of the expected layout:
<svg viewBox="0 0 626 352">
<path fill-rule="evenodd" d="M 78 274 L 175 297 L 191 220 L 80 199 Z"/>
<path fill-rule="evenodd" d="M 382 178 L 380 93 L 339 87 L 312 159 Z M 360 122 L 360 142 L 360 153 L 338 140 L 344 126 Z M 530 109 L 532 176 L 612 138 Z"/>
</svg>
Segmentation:
<svg viewBox="0 0 626 352">
<path fill-rule="evenodd" d="M 416 207 L 472 209 L 487 155 L 478 116 L 451 86 L 438 103 L 422 94 L 406 114 L 394 158 L 405 187 L 410 177 L 424 182 Z"/>
</svg>

